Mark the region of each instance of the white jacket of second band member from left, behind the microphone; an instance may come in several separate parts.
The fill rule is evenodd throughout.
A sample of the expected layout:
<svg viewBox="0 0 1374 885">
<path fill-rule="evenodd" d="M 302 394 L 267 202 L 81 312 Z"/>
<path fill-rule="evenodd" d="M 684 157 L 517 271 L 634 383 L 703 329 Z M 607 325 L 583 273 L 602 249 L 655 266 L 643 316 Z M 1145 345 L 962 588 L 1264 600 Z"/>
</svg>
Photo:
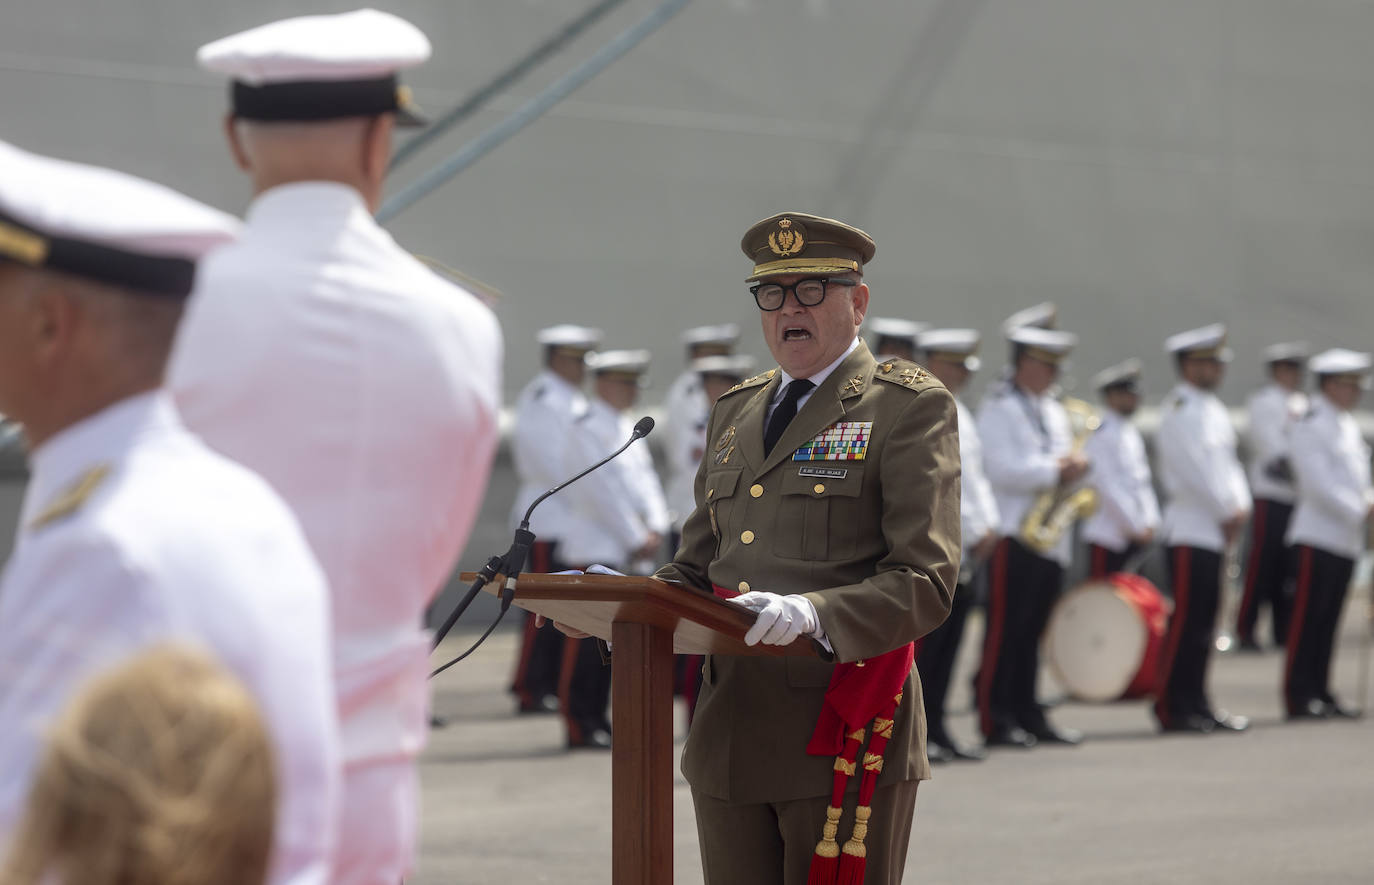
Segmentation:
<svg viewBox="0 0 1374 885">
<path fill-rule="evenodd" d="M 573 423 L 565 466 L 572 475 L 606 458 L 629 438 L 635 422 L 603 400 L 592 399 Z M 567 486 L 573 521 L 563 550 L 572 565 L 600 562 L 628 566 L 650 532 L 668 530 L 668 504 L 649 447 L 636 441 L 620 458 Z"/>
</svg>

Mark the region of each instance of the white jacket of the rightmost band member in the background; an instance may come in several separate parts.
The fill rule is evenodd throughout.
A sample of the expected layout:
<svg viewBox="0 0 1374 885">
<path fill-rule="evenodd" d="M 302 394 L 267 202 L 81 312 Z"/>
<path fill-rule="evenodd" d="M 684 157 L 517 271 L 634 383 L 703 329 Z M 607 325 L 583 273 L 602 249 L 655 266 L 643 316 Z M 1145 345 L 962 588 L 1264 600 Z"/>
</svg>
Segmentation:
<svg viewBox="0 0 1374 885">
<path fill-rule="evenodd" d="M 1359 559 L 1374 488 L 1370 447 L 1355 418 L 1314 396 L 1311 411 L 1293 425 L 1292 458 L 1298 496 L 1287 543 Z"/>
</svg>

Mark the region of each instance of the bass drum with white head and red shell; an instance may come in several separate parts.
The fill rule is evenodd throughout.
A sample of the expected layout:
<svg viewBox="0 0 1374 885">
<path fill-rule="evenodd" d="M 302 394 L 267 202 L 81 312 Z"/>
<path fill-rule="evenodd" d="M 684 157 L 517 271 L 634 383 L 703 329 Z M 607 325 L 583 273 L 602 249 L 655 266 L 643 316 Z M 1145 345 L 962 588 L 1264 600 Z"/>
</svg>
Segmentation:
<svg viewBox="0 0 1374 885">
<path fill-rule="evenodd" d="M 1154 694 L 1171 603 L 1139 574 L 1117 572 L 1059 599 L 1046 631 L 1046 657 L 1080 701 Z"/>
</svg>

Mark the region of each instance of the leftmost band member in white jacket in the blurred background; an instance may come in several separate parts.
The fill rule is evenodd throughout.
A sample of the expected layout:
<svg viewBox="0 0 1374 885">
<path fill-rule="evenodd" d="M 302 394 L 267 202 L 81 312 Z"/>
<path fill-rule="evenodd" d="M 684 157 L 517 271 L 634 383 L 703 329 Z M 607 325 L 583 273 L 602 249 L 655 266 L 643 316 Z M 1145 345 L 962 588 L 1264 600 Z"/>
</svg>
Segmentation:
<svg viewBox="0 0 1374 885">
<path fill-rule="evenodd" d="M 541 328 L 536 341 L 543 368 L 515 399 L 515 423 L 511 427 L 511 456 L 519 488 L 511 507 L 511 529 L 525 518 L 536 497 L 567 480 L 563 473 L 563 445 L 572 436 L 573 421 L 587 414 L 583 393 L 587 377 L 587 353 L 600 344 L 599 328 L 569 323 Z M 576 471 L 574 471 L 576 473 Z M 562 572 L 567 561 L 561 547 L 573 524 L 566 495 L 554 495 L 530 515 L 534 544 L 529 554 L 530 572 Z M 563 661 L 563 634 L 554 624 L 534 625 L 534 616 L 525 613 L 519 656 L 511 691 L 521 713 L 556 713 L 558 679 Z"/>
</svg>

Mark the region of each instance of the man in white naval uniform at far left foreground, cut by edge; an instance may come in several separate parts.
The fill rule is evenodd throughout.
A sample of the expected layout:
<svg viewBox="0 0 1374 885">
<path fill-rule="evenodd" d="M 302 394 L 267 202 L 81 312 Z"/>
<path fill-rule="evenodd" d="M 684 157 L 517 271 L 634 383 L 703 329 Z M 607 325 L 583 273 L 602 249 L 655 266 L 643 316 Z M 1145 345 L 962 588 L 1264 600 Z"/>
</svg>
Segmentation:
<svg viewBox="0 0 1374 885">
<path fill-rule="evenodd" d="M 0 579 L 0 834 L 73 691 L 191 642 L 271 728 L 271 881 L 323 885 L 339 801 L 324 574 L 286 503 L 162 389 L 196 261 L 236 231 L 161 186 L 0 143 L 0 411 L 32 451 Z"/>
</svg>

